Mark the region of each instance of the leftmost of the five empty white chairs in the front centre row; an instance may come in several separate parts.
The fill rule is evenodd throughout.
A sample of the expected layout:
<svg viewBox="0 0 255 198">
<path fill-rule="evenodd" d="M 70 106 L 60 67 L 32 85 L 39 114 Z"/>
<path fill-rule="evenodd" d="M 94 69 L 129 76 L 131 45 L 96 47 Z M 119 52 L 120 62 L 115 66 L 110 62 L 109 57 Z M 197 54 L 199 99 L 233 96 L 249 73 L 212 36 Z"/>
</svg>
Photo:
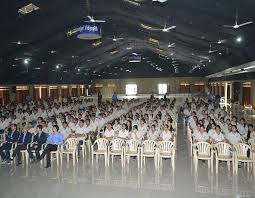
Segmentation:
<svg viewBox="0 0 255 198">
<path fill-rule="evenodd" d="M 94 163 L 94 155 L 98 159 L 98 155 L 104 155 L 105 166 L 107 166 L 107 150 L 108 150 L 108 140 L 105 138 L 97 139 L 94 144 L 91 146 L 91 156 L 92 156 L 92 166 Z"/>
</svg>

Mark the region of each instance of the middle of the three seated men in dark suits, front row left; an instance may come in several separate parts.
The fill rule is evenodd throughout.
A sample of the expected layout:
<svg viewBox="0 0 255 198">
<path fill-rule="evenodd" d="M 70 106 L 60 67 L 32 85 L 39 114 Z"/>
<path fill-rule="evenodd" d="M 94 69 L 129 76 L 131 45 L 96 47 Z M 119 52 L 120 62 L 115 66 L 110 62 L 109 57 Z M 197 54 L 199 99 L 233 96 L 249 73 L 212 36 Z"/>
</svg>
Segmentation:
<svg viewBox="0 0 255 198">
<path fill-rule="evenodd" d="M 21 152 L 27 149 L 27 145 L 32 141 L 32 134 L 28 132 L 27 127 L 22 128 L 22 133 L 19 136 L 19 140 L 15 150 L 13 151 L 11 160 L 13 160 L 17 155 L 17 165 L 21 164 Z"/>
</svg>

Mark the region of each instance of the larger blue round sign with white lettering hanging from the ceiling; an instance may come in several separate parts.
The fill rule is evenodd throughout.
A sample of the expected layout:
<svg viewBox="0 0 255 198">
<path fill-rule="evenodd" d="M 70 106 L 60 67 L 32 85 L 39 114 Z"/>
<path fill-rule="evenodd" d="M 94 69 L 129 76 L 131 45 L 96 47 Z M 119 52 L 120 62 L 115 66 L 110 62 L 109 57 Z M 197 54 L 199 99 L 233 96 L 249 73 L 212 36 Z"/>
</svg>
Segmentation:
<svg viewBox="0 0 255 198">
<path fill-rule="evenodd" d="M 91 22 L 84 22 L 79 28 L 79 34 L 77 38 L 84 39 L 84 40 L 94 40 L 99 39 L 102 37 L 101 35 L 101 28 Z"/>
</svg>

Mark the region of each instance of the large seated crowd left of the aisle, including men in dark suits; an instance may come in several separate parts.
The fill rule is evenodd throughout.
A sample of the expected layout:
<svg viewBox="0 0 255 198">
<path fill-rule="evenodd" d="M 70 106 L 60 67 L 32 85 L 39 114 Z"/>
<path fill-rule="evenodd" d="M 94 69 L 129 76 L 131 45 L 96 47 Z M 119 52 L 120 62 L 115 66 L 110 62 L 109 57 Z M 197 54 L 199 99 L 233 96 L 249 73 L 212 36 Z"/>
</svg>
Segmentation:
<svg viewBox="0 0 255 198">
<path fill-rule="evenodd" d="M 17 158 L 27 150 L 31 163 L 47 157 L 70 137 L 92 141 L 104 137 L 124 140 L 133 138 L 173 141 L 176 135 L 176 100 L 150 99 L 102 102 L 99 106 L 86 101 L 30 101 L 0 108 L 0 155 L 2 164 Z M 98 134 L 98 132 L 100 134 Z M 39 152 L 42 150 L 43 152 Z M 12 153 L 10 153 L 12 151 Z"/>
</svg>

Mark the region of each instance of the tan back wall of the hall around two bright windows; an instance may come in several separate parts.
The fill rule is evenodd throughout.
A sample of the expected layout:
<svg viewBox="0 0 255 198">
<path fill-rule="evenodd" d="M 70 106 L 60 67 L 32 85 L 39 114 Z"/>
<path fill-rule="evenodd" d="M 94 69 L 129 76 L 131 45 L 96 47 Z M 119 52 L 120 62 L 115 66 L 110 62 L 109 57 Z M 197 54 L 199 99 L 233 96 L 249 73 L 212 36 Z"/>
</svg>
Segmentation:
<svg viewBox="0 0 255 198">
<path fill-rule="evenodd" d="M 157 94 L 158 84 L 160 83 L 166 83 L 168 85 L 169 93 L 180 93 L 183 90 L 185 90 L 184 92 L 194 93 L 197 92 L 195 86 L 199 86 L 199 90 L 203 90 L 203 92 L 207 89 L 207 80 L 200 77 L 103 79 L 93 81 L 93 85 L 95 87 L 101 87 L 102 93 L 105 96 L 112 95 L 114 91 L 118 94 L 125 94 L 126 84 L 137 84 L 138 94 Z M 189 86 L 189 89 L 182 89 L 183 86 Z M 202 89 L 201 86 L 203 86 Z"/>
</svg>

